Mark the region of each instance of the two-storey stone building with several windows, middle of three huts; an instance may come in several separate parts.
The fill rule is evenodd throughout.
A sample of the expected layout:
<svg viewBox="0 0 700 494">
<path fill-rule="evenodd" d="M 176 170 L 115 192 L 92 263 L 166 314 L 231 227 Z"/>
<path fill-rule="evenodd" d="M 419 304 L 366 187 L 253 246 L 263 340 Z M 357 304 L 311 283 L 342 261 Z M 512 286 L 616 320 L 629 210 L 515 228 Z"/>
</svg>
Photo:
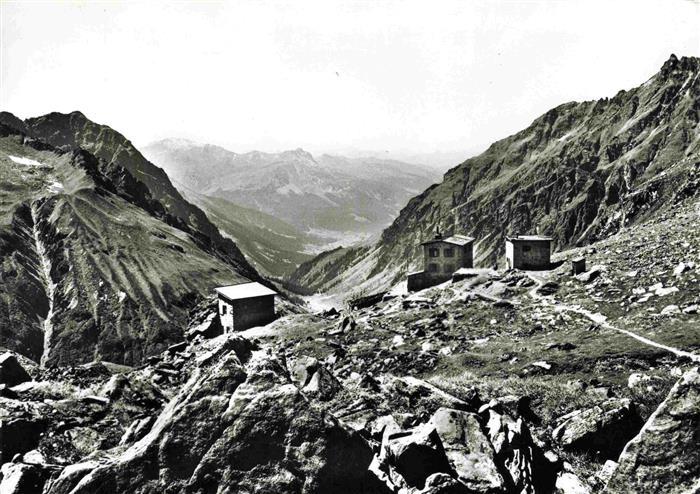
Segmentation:
<svg viewBox="0 0 700 494">
<path fill-rule="evenodd" d="M 423 242 L 423 271 L 409 273 L 408 290 L 416 291 L 443 283 L 460 268 L 474 266 L 474 239 L 464 235 L 447 238 L 438 232 Z"/>
</svg>

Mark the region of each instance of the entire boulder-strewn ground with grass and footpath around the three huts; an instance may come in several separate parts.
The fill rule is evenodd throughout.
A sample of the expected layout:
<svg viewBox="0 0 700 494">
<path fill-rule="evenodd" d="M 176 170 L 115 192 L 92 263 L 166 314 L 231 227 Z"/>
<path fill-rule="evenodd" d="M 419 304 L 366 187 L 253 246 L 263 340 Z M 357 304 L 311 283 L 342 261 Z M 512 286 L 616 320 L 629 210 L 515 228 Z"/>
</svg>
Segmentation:
<svg viewBox="0 0 700 494">
<path fill-rule="evenodd" d="M 0 492 L 696 492 L 699 215 L 237 335 L 203 302 L 138 367 L 3 349 Z"/>
</svg>

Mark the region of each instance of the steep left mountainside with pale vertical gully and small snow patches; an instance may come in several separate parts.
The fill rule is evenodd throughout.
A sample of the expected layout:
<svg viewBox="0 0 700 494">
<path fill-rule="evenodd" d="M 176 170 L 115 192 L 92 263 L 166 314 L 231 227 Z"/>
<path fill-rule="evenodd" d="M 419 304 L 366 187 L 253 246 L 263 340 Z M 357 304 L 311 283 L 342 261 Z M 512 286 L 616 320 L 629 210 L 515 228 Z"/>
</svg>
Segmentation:
<svg viewBox="0 0 700 494">
<path fill-rule="evenodd" d="M 182 337 L 203 294 L 258 276 L 177 191 L 168 209 L 118 156 L 59 150 L 2 117 L 22 129 L 0 123 L 0 346 L 45 365 L 139 363 Z"/>
</svg>

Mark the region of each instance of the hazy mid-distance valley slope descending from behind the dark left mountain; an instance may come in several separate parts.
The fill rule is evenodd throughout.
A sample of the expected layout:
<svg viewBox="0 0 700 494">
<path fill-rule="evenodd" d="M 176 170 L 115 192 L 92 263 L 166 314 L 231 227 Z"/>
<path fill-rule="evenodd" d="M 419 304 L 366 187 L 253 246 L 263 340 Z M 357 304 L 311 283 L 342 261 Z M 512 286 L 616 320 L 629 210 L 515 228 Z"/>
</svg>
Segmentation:
<svg viewBox="0 0 700 494">
<path fill-rule="evenodd" d="M 224 236 L 231 238 L 255 268 L 274 278 L 291 274 L 308 261 L 308 243 L 314 240 L 296 227 L 269 214 L 238 206 L 226 199 L 180 190 L 188 201 L 200 207 Z"/>
</svg>

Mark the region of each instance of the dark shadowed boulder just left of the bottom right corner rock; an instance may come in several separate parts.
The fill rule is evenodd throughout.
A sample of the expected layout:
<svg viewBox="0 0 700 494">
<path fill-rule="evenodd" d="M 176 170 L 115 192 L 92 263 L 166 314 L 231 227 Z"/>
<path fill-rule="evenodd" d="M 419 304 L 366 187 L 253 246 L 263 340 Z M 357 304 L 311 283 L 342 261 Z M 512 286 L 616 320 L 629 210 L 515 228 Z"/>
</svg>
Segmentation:
<svg viewBox="0 0 700 494">
<path fill-rule="evenodd" d="M 564 449 L 600 454 L 606 459 L 617 458 L 642 426 L 637 408 L 626 398 L 611 398 L 560 420 L 563 422 L 552 437 Z"/>
</svg>

